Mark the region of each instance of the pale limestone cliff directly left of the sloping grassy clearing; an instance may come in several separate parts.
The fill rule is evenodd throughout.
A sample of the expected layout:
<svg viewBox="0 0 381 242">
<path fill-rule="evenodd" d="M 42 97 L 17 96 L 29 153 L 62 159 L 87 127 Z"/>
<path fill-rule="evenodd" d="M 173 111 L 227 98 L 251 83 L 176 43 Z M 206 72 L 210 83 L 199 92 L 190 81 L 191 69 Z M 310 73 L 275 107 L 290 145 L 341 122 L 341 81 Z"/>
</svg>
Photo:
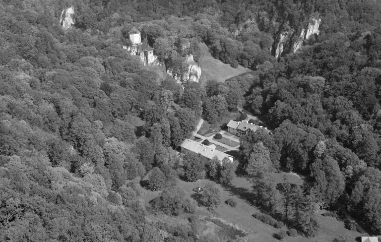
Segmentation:
<svg viewBox="0 0 381 242">
<path fill-rule="evenodd" d="M 185 63 L 188 67 L 184 73 L 178 74 L 172 69 L 167 69 L 167 73 L 172 75 L 180 85 L 184 85 L 188 81 L 198 82 L 201 76 L 201 67 L 193 60 L 193 55 L 186 56 Z"/>
</svg>

